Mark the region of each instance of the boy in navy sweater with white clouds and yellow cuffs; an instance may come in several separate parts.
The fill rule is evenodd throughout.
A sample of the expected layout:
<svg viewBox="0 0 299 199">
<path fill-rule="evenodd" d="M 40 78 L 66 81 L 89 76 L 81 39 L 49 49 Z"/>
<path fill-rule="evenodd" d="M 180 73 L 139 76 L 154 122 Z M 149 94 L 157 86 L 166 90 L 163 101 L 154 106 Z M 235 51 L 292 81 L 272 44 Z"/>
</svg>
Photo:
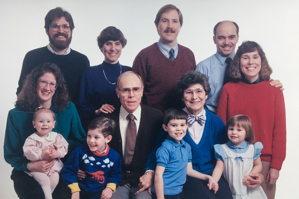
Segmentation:
<svg viewBox="0 0 299 199">
<path fill-rule="evenodd" d="M 72 199 L 109 199 L 121 180 L 121 159 L 110 149 L 115 122 L 105 117 L 92 120 L 88 126 L 87 144 L 78 146 L 61 170 L 63 181 L 71 189 Z M 77 180 L 78 170 L 86 178 Z"/>
</svg>

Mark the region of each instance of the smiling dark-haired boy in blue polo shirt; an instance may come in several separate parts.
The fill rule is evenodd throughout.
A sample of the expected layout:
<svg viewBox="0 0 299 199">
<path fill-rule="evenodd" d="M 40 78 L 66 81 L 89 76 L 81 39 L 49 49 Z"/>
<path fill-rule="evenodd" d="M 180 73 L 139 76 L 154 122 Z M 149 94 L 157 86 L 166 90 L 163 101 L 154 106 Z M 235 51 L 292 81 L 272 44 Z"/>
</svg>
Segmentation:
<svg viewBox="0 0 299 199">
<path fill-rule="evenodd" d="M 188 115 L 182 109 L 170 108 L 164 113 L 163 129 L 168 132 L 166 140 L 156 152 L 157 166 L 153 199 L 183 198 L 186 175 L 209 181 L 209 189 L 216 193 L 218 183 L 212 176 L 193 170 L 191 147 L 183 137 L 187 131 Z"/>
</svg>

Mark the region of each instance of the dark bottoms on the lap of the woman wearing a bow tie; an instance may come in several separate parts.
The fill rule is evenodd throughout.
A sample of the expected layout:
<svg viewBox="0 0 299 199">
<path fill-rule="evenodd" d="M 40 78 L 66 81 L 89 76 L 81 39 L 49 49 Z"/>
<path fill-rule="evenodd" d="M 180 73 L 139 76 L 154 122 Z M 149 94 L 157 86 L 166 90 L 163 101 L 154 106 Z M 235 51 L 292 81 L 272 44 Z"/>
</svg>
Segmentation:
<svg viewBox="0 0 299 199">
<path fill-rule="evenodd" d="M 187 176 L 186 183 L 183 186 L 184 198 L 186 199 L 233 199 L 228 183 L 221 176 L 218 181 L 219 189 L 214 195 L 214 191 L 209 190 L 208 181 L 202 181 L 197 178 Z"/>
</svg>

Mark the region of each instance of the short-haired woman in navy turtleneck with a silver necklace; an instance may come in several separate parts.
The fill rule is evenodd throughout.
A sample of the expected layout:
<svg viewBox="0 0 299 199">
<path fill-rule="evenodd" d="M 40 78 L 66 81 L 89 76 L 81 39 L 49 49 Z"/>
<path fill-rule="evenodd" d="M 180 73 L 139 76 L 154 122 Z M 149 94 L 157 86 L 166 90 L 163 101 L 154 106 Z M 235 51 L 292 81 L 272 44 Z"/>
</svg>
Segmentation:
<svg viewBox="0 0 299 199">
<path fill-rule="evenodd" d="M 105 59 L 102 64 L 89 67 L 82 74 L 79 112 L 84 129 L 101 112 L 112 112 L 114 107 L 120 106 L 115 92 L 116 79 L 131 70 L 131 67 L 120 65 L 118 61 L 126 43 L 123 33 L 113 26 L 102 30 L 97 37 Z"/>
</svg>

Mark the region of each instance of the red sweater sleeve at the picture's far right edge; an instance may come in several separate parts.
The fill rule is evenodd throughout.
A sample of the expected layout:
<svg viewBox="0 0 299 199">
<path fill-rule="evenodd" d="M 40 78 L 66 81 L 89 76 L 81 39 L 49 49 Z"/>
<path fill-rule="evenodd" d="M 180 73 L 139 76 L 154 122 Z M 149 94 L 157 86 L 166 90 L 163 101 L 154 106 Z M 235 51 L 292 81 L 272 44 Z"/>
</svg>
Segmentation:
<svg viewBox="0 0 299 199">
<path fill-rule="evenodd" d="M 286 109 L 283 92 L 279 88 L 275 88 L 274 90 L 275 115 L 270 167 L 280 170 L 286 158 Z"/>
</svg>

